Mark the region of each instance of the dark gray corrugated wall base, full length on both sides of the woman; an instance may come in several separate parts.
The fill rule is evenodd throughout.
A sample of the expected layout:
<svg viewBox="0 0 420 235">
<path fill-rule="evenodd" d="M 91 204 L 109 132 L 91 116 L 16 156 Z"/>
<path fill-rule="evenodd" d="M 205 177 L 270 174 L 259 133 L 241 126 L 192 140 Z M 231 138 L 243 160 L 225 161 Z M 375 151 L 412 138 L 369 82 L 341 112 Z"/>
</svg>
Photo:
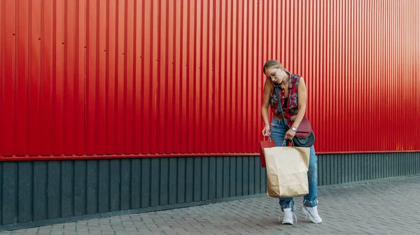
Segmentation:
<svg viewBox="0 0 420 235">
<path fill-rule="evenodd" d="M 420 174 L 420 153 L 318 156 L 319 185 L 409 174 Z M 264 194 L 267 184 L 259 156 L 0 162 L 0 176 L 0 230 Z"/>
</svg>

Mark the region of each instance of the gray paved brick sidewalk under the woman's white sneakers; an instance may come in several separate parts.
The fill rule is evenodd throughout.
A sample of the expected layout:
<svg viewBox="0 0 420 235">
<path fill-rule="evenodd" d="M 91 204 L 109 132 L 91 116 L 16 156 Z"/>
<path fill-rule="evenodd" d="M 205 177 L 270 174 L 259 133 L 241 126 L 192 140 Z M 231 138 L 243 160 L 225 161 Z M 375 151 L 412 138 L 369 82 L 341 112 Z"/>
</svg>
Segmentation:
<svg viewBox="0 0 420 235">
<path fill-rule="evenodd" d="M 323 223 L 281 225 L 278 199 L 259 197 L 185 209 L 18 229 L 0 234 L 420 234 L 420 176 L 318 188 Z"/>
</svg>

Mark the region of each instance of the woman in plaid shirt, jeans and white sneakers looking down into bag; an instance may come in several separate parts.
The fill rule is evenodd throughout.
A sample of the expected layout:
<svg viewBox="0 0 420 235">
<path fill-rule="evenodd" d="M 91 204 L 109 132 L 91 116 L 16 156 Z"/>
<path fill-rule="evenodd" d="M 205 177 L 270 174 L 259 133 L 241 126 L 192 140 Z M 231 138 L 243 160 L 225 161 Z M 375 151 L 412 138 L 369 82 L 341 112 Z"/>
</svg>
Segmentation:
<svg viewBox="0 0 420 235">
<path fill-rule="evenodd" d="M 264 84 L 264 97 L 262 98 L 262 120 L 265 128 L 262 135 L 271 136 L 276 146 L 282 146 L 284 140 L 291 140 L 295 136 L 295 131 L 304 117 L 307 106 L 307 91 L 303 77 L 289 73 L 283 65 L 276 60 L 270 60 L 265 63 L 263 68 L 267 76 Z M 280 104 L 283 109 L 286 124 L 293 122 L 289 130 L 283 125 L 281 113 L 277 106 L 276 89 L 279 86 Z M 271 125 L 268 118 L 268 106 L 273 112 Z M 315 155 L 314 146 L 311 146 L 309 156 L 308 183 L 309 193 L 304 195 L 302 211 L 314 223 L 322 222 L 318 215 L 318 199 L 316 195 L 317 183 L 317 163 L 318 158 Z M 293 212 L 295 209 L 293 198 L 280 198 L 279 204 L 283 211 L 282 224 L 293 225 Z M 280 220 L 280 217 L 279 217 Z"/>
</svg>

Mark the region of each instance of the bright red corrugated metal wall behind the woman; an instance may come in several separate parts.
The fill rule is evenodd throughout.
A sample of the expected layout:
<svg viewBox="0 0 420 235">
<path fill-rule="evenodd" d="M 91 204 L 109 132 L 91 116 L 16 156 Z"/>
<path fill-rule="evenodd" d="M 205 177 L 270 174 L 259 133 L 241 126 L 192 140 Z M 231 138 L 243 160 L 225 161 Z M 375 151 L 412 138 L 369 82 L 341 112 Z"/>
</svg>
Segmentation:
<svg viewBox="0 0 420 235">
<path fill-rule="evenodd" d="M 258 153 L 262 65 L 318 152 L 420 151 L 420 3 L 0 0 L 0 156 Z"/>
</svg>

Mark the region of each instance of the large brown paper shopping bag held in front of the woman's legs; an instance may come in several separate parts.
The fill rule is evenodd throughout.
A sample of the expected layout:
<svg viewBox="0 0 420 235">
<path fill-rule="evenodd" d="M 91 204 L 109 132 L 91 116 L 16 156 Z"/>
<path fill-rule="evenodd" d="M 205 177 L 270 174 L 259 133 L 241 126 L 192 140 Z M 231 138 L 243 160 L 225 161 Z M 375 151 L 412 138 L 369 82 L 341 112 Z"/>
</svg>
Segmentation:
<svg viewBox="0 0 420 235">
<path fill-rule="evenodd" d="M 276 146 L 265 148 L 267 195 L 269 197 L 299 197 L 307 195 L 309 149 Z"/>
</svg>

